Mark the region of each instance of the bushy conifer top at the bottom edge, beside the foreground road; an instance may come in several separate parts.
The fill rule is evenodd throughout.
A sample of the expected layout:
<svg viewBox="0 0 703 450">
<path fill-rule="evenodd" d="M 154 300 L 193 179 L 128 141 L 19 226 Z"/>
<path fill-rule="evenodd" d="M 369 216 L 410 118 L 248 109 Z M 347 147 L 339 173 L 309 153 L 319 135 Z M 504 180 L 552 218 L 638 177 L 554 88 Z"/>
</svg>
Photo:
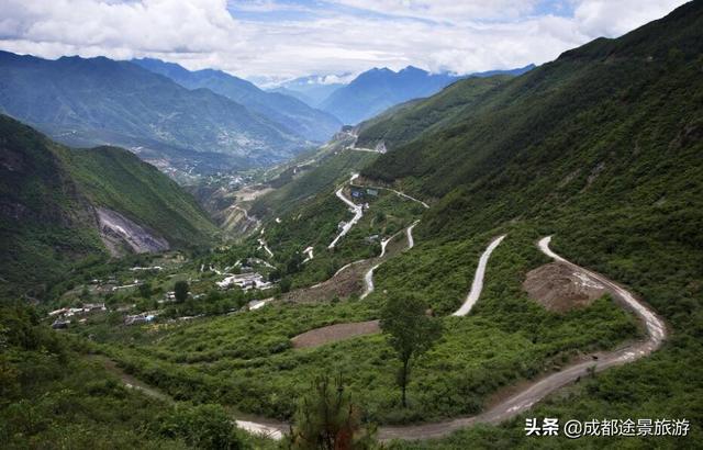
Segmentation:
<svg viewBox="0 0 703 450">
<path fill-rule="evenodd" d="M 300 401 L 287 447 L 297 450 L 367 450 L 377 448 L 375 429 L 361 426 L 361 412 L 352 403 L 342 376 L 313 381 Z"/>
</svg>

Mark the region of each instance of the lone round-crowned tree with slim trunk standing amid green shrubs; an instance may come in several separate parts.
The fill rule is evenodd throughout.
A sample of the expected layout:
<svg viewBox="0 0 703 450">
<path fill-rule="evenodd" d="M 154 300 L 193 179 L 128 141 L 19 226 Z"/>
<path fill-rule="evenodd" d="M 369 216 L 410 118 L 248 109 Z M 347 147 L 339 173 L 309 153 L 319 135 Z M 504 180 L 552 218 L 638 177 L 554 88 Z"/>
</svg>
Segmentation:
<svg viewBox="0 0 703 450">
<path fill-rule="evenodd" d="M 426 311 L 427 304 L 415 296 L 391 297 L 381 311 L 381 329 L 401 361 L 398 384 L 403 407 L 408 406 L 405 392 L 413 360 L 429 350 L 442 336 L 442 324 Z"/>
</svg>

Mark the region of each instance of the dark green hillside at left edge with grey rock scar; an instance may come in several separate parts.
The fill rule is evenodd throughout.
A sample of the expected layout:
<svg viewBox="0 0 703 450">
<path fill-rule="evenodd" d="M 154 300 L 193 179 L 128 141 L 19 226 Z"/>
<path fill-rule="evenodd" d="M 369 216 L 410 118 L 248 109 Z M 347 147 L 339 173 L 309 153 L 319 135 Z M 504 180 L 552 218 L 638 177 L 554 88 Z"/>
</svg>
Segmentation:
<svg viewBox="0 0 703 450">
<path fill-rule="evenodd" d="M 127 150 L 71 149 L 5 115 L 0 142 L 0 295 L 41 293 L 88 256 L 202 246 L 217 233 L 189 194 Z"/>
</svg>

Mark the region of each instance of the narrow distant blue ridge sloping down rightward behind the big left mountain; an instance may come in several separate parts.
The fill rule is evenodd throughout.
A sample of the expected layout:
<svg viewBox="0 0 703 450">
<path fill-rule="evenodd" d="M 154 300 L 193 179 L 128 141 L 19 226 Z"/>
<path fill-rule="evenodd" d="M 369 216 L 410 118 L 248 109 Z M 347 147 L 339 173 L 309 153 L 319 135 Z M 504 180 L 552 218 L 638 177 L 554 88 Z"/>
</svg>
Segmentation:
<svg viewBox="0 0 703 450">
<path fill-rule="evenodd" d="M 327 140 L 342 126 L 332 115 L 315 110 L 299 99 L 280 92 L 263 91 L 254 83 L 221 70 L 189 71 L 177 64 L 150 58 L 133 59 L 132 63 L 164 75 L 188 89 L 210 89 L 310 140 Z"/>
</svg>

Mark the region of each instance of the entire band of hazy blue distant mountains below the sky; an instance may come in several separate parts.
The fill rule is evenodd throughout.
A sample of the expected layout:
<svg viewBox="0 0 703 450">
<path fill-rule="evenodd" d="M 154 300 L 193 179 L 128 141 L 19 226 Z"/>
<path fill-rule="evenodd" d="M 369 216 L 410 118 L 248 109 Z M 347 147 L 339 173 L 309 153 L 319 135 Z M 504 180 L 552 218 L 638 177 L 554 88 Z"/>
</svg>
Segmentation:
<svg viewBox="0 0 703 450">
<path fill-rule="evenodd" d="M 148 58 L 48 60 L 0 52 L 0 112 L 67 145 L 119 145 L 169 172 L 208 173 L 291 158 L 328 139 L 343 122 L 456 79 L 409 67 L 398 74 L 372 69 L 348 86 L 308 77 L 282 88 L 299 89 L 301 99 L 312 95 L 308 101 L 321 111 L 220 70 L 189 71 Z"/>
</svg>

